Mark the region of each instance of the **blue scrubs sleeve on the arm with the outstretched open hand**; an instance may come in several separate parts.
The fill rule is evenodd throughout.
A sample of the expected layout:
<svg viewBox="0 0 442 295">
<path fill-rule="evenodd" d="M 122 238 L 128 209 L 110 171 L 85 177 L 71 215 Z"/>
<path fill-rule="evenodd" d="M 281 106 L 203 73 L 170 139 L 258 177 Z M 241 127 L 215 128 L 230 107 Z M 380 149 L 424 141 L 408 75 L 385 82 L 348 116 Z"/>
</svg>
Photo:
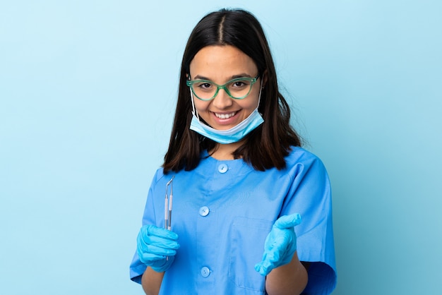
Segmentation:
<svg viewBox="0 0 442 295">
<path fill-rule="evenodd" d="M 336 286 L 331 189 L 327 171 L 315 155 L 306 152 L 292 170 L 293 183 L 282 212 L 299 212 L 299 260 L 309 263 L 309 282 L 303 294 L 330 294 Z"/>
</svg>

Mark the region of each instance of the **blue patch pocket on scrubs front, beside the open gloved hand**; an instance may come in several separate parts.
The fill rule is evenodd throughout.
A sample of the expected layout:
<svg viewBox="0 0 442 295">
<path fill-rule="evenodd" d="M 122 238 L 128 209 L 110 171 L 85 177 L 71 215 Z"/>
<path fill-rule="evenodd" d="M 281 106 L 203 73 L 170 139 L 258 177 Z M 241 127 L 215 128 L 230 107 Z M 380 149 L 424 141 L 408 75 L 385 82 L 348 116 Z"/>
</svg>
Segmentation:
<svg viewBox="0 0 442 295">
<path fill-rule="evenodd" d="M 244 289 L 263 294 L 265 277 L 255 270 L 263 257 L 264 241 L 273 222 L 236 217 L 232 225 L 229 279 Z"/>
</svg>

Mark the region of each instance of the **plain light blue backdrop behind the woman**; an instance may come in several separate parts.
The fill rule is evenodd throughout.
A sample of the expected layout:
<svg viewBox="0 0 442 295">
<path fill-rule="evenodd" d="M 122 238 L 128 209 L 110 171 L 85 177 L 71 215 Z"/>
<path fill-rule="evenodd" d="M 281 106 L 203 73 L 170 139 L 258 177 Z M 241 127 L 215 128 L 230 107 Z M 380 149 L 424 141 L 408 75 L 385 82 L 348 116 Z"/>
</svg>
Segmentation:
<svg viewBox="0 0 442 295">
<path fill-rule="evenodd" d="M 442 287 L 440 1 L 1 1 L 0 294 L 142 294 L 129 263 L 197 21 L 261 20 L 333 183 L 334 294 Z"/>
</svg>

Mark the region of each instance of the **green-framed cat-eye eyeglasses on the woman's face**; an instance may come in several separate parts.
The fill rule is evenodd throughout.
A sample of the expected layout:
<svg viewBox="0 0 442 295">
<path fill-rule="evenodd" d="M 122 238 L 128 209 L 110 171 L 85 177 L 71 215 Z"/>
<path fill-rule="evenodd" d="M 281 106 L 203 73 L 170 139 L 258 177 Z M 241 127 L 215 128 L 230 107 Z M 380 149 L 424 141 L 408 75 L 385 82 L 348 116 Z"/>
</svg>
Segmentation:
<svg viewBox="0 0 442 295">
<path fill-rule="evenodd" d="M 256 83 L 258 78 L 259 73 L 254 78 L 235 78 L 229 80 L 224 85 L 217 85 L 210 80 L 187 80 L 186 85 L 191 88 L 193 95 L 200 100 L 213 100 L 220 89 L 224 89 L 229 97 L 235 100 L 242 100 L 249 95 L 253 84 Z"/>
</svg>

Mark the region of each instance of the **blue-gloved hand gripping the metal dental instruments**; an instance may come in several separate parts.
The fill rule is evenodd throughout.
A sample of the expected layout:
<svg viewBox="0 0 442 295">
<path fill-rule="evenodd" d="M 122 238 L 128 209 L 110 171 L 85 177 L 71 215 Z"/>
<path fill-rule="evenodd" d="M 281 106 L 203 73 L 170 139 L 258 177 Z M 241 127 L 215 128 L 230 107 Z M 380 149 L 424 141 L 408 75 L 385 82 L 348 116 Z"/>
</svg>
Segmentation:
<svg viewBox="0 0 442 295">
<path fill-rule="evenodd" d="M 174 262 L 179 248 L 178 235 L 173 231 L 145 225 L 141 227 L 137 238 L 138 257 L 155 272 L 165 272 Z"/>
</svg>

